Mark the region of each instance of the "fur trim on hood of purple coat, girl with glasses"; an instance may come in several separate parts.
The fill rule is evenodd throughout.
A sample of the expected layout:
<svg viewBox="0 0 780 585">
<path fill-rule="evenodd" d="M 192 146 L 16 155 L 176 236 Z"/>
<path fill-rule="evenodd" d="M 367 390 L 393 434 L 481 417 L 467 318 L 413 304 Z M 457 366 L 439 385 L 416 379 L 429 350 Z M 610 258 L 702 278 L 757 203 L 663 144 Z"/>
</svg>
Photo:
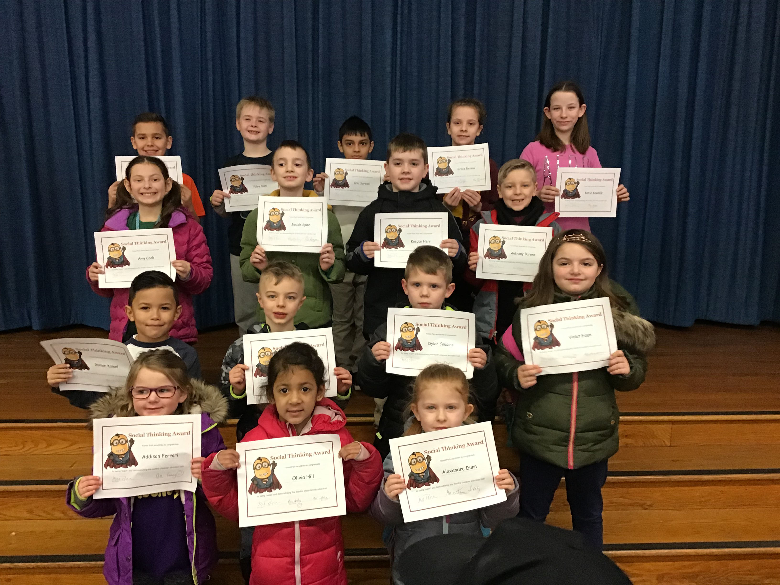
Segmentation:
<svg viewBox="0 0 780 585">
<path fill-rule="evenodd" d="M 192 380 L 191 383 L 193 391 L 190 399 L 179 406 L 176 414 L 207 413 L 215 423 L 222 423 L 228 416 L 228 399 L 222 395 L 222 392 L 216 386 L 206 384 L 202 380 Z M 90 406 L 90 422 L 88 426 L 92 427 L 92 420 L 96 418 L 135 416 L 133 397 L 129 392 L 125 392 L 124 388 L 115 388 Z"/>
</svg>

